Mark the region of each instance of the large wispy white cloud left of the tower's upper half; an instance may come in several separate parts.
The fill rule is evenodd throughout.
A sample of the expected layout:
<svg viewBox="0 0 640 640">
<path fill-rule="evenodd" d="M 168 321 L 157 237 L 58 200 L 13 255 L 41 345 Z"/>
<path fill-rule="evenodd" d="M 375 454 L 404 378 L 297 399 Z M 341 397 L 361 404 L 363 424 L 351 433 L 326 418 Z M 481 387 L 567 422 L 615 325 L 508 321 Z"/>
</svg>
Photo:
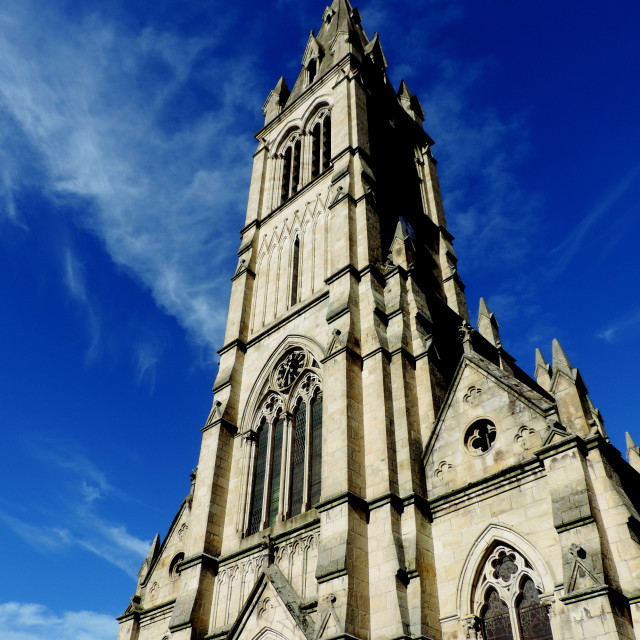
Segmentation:
<svg viewBox="0 0 640 640">
<path fill-rule="evenodd" d="M 214 38 L 136 32 L 99 14 L 72 19 L 56 7 L 6 3 L 0 119 L 19 128 L 46 168 L 41 186 L 51 197 L 71 209 L 81 202 L 79 222 L 103 239 L 115 263 L 194 340 L 219 347 L 220 299 L 232 270 L 224 261 L 236 244 L 253 151 L 238 111 L 255 72 L 247 59 L 216 58 Z M 200 85 L 216 94 L 203 88 L 196 99 L 186 87 L 203 56 Z M 18 151 L 6 154 L 9 203 L 25 173 L 13 170 Z M 73 279 L 77 263 L 67 266 L 72 292 L 86 295 Z"/>
</svg>

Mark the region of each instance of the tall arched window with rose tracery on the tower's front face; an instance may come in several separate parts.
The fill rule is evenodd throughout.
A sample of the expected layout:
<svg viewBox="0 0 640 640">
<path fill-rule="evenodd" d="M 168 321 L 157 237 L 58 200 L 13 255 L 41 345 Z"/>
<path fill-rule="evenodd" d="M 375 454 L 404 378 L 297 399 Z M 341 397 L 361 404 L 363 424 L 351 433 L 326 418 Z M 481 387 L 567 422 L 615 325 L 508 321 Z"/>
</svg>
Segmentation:
<svg viewBox="0 0 640 640">
<path fill-rule="evenodd" d="M 247 535 L 313 508 L 322 488 L 318 362 L 291 349 L 273 370 L 248 434 Z"/>
</svg>

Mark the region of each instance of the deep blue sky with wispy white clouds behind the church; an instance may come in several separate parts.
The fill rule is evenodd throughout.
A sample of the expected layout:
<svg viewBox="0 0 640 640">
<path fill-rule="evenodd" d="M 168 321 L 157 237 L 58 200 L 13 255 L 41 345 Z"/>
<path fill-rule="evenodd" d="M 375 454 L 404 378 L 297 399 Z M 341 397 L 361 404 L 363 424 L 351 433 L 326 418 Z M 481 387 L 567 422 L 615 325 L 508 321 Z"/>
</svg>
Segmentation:
<svg viewBox="0 0 640 640">
<path fill-rule="evenodd" d="M 361 2 L 436 140 L 475 320 L 640 440 L 640 5 Z M 0 6 L 4 640 L 115 638 L 189 489 L 253 134 L 324 3 Z"/>
</svg>

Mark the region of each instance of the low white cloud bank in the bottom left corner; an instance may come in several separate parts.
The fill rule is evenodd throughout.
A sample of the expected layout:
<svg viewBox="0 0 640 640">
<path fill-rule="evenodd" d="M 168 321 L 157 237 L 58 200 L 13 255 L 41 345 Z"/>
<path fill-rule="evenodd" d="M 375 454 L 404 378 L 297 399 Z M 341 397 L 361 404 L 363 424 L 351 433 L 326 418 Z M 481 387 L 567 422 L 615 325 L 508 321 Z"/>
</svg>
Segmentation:
<svg viewBox="0 0 640 640">
<path fill-rule="evenodd" d="M 113 640 L 117 632 L 112 616 L 94 611 L 56 614 L 41 604 L 0 604 L 3 640 Z"/>
</svg>

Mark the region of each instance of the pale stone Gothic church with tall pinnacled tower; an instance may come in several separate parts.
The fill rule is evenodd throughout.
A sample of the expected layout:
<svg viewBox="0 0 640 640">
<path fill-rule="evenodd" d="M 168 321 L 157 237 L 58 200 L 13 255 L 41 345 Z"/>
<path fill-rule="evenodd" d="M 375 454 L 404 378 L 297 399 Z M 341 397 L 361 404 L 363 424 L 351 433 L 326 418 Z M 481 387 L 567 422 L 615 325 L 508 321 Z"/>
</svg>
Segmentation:
<svg viewBox="0 0 640 640">
<path fill-rule="evenodd" d="M 470 326 L 385 67 L 334 0 L 267 98 L 197 471 L 119 640 L 640 638 L 640 451 L 557 342 L 533 379 Z"/>
</svg>

